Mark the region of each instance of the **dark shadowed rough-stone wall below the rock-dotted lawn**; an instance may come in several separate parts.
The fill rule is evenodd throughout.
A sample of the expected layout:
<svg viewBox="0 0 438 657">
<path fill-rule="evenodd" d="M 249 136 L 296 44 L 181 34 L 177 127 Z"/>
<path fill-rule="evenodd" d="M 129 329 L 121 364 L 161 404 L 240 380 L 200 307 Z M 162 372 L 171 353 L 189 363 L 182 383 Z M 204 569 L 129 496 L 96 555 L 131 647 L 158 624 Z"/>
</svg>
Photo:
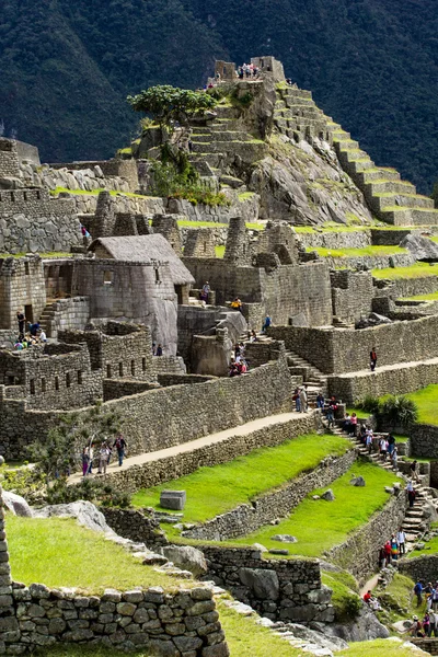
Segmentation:
<svg viewBox="0 0 438 657">
<path fill-rule="evenodd" d="M 330 589 L 316 560 L 265 560 L 258 550 L 200 546 L 207 577 L 273 621 L 333 622 Z"/>
</svg>

